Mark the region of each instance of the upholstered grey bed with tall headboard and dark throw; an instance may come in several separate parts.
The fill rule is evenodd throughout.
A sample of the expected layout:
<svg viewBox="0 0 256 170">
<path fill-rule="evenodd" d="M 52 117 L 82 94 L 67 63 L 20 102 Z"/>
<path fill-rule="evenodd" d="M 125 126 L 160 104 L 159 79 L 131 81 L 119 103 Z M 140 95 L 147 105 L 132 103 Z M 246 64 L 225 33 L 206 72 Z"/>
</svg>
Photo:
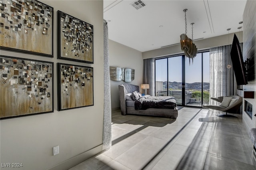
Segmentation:
<svg viewBox="0 0 256 170">
<path fill-rule="evenodd" d="M 174 97 L 140 96 L 138 93 L 140 87 L 132 84 L 118 85 L 118 90 L 122 115 L 148 115 L 175 119 L 178 117 L 178 108 Z M 136 96 L 136 92 L 139 96 Z"/>
</svg>

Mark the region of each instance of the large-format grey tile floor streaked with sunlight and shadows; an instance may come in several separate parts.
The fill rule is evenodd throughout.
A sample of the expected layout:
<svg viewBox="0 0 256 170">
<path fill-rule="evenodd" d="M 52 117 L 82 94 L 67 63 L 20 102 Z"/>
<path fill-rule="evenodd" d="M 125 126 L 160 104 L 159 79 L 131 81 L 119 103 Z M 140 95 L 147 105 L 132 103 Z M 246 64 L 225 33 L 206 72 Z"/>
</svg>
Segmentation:
<svg viewBox="0 0 256 170">
<path fill-rule="evenodd" d="M 177 119 L 112 113 L 112 147 L 70 170 L 255 170 L 238 119 L 183 107 Z"/>
</svg>

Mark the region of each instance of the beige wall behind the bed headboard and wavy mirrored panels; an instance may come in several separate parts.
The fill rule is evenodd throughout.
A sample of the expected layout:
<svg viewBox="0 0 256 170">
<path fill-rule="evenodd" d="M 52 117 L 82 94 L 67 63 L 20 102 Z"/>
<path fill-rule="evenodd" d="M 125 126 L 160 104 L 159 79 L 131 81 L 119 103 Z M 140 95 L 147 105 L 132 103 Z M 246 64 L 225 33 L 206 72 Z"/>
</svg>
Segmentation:
<svg viewBox="0 0 256 170">
<path fill-rule="evenodd" d="M 118 85 L 130 83 L 141 85 L 143 81 L 143 59 L 142 52 L 109 40 L 109 63 L 113 67 L 130 68 L 135 70 L 134 80 L 131 82 L 110 81 L 111 88 L 111 108 L 120 107 Z M 140 89 L 141 90 L 141 89 Z"/>
</svg>

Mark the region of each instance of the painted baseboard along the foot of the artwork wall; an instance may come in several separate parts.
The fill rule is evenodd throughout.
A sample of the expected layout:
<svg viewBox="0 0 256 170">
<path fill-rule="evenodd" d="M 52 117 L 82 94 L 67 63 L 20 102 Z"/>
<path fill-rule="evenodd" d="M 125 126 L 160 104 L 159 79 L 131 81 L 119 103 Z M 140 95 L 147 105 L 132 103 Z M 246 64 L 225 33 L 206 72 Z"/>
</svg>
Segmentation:
<svg viewBox="0 0 256 170">
<path fill-rule="evenodd" d="M 64 162 L 61 162 L 60 164 L 53 166 L 52 168 L 50 168 L 48 170 L 68 170 L 68 169 L 72 168 L 73 166 L 76 166 L 77 164 L 80 164 L 81 162 L 84 162 L 85 160 L 91 158 L 92 156 L 97 155 L 100 152 L 102 152 L 102 144 L 100 144 L 99 146 L 96 146 L 86 152 L 83 152 L 82 154 L 74 156 L 73 158 L 70 158 Z"/>
</svg>

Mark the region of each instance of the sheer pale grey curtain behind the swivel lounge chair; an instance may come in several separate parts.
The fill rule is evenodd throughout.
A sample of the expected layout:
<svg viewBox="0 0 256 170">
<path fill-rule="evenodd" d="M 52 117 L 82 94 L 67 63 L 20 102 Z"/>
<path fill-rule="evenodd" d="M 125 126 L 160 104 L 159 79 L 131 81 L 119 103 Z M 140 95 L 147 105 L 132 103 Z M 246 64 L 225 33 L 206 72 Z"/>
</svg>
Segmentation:
<svg viewBox="0 0 256 170">
<path fill-rule="evenodd" d="M 210 97 L 236 95 L 236 80 L 230 58 L 231 45 L 210 48 Z M 231 67 L 228 67 L 231 65 Z M 217 105 L 210 100 L 210 105 Z"/>
</svg>

